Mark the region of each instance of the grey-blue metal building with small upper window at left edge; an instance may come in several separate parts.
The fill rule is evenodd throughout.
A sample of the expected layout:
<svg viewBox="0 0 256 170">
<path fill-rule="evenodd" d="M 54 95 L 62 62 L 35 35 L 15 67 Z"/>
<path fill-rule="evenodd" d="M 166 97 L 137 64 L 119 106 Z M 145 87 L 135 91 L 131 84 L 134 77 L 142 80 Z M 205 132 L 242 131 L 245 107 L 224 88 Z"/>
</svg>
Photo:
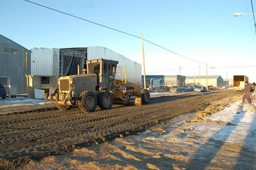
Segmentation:
<svg viewBox="0 0 256 170">
<path fill-rule="evenodd" d="M 25 47 L 0 35 L 0 84 L 17 85 L 17 93 L 26 93 L 26 54 L 27 74 L 30 75 L 31 52 Z"/>
</svg>

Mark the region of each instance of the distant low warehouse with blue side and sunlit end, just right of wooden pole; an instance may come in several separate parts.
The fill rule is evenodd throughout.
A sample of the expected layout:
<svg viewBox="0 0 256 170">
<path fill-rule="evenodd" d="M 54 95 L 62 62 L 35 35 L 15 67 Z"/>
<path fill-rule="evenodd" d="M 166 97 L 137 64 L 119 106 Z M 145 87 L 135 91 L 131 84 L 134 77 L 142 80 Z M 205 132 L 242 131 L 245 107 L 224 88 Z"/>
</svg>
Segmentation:
<svg viewBox="0 0 256 170">
<path fill-rule="evenodd" d="M 141 76 L 142 84 L 144 82 L 144 76 Z M 160 79 L 160 86 L 167 86 L 172 87 L 176 85 L 183 86 L 186 81 L 186 77 L 183 75 L 146 75 L 146 85 L 150 86 L 150 80 L 159 80 Z"/>
</svg>

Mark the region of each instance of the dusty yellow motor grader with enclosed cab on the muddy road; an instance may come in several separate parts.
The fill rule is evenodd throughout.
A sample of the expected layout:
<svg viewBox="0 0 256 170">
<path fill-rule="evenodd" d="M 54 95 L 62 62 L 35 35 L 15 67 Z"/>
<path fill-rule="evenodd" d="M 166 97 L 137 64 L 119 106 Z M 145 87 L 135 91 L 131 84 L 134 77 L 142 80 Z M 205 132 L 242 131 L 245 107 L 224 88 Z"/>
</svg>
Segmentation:
<svg viewBox="0 0 256 170">
<path fill-rule="evenodd" d="M 98 105 L 101 109 L 111 109 L 116 104 L 147 104 L 150 94 L 140 90 L 140 83 L 115 78 L 118 61 L 97 59 L 86 61 L 82 75 L 58 78 L 58 86 L 45 99 L 55 100 L 58 109 L 68 110 L 79 107 L 83 112 L 93 112 Z M 80 71 L 79 71 L 80 72 Z"/>
</svg>

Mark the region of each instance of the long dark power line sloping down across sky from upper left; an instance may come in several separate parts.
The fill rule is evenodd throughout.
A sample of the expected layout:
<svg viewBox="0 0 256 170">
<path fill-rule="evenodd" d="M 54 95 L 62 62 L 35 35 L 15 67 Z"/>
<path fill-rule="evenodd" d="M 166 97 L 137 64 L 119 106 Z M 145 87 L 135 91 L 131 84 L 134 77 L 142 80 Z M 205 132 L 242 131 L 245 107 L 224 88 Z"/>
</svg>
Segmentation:
<svg viewBox="0 0 256 170">
<path fill-rule="evenodd" d="M 50 8 L 50 7 L 47 7 L 47 6 L 38 4 L 38 3 L 34 3 L 34 2 L 32 2 L 32 1 L 29 1 L 29 0 L 25 0 L 25 1 L 26 1 L 26 2 L 29 2 L 29 3 L 33 3 L 33 4 L 38 5 L 38 6 L 42 6 L 42 7 L 47 8 L 47 9 L 51 9 L 51 10 L 56 11 L 56 12 L 60 12 L 60 13 L 62 13 L 62 14 L 69 15 L 69 16 L 71 16 L 71 17 L 78 18 L 78 19 L 80 19 L 80 20 L 87 21 L 87 22 L 89 22 L 89 23 L 96 24 L 96 25 L 98 25 L 98 26 L 102 26 L 102 27 L 105 27 L 105 28 L 108 28 L 108 29 L 112 29 L 112 30 L 114 30 L 114 31 L 121 32 L 121 33 L 123 33 L 123 34 L 130 35 L 130 36 L 132 36 L 132 37 L 136 37 L 136 38 L 140 38 L 140 39 L 141 39 L 141 37 L 138 37 L 138 36 L 136 36 L 136 35 L 132 35 L 132 34 L 129 34 L 129 33 L 127 33 L 127 32 L 120 31 L 120 30 L 118 30 L 118 29 L 113 29 L 113 28 L 111 28 L 111 27 L 108 27 L 108 26 L 105 26 L 105 25 L 102 25 L 102 24 L 99 24 L 99 23 L 96 23 L 96 22 L 93 22 L 93 21 L 90 21 L 90 20 L 86 20 L 86 19 L 81 18 L 81 17 L 77 17 L 77 16 L 75 16 L 75 15 L 68 14 L 68 13 L 66 13 L 66 12 L 61 12 L 61 11 L 59 11 L 59 10 L 57 10 L 57 9 L 53 9 L 53 8 Z M 143 40 L 145 40 L 145 39 L 143 39 Z M 163 46 L 157 45 L 156 43 L 153 43 L 153 42 L 151 42 L 151 41 L 149 41 L 149 40 L 145 40 L 145 41 L 147 41 L 148 43 L 151 43 L 151 44 L 153 44 L 153 45 L 155 45 L 155 46 L 158 46 L 158 47 L 160 47 L 160 48 L 162 48 L 162 49 L 165 49 L 165 50 L 167 50 L 167 51 L 169 51 L 169 52 L 172 52 L 172 53 L 174 53 L 174 54 L 176 54 L 176 55 L 179 55 L 180 57 L 189 59 L 189 60 L 191 60 L 191 61 L 195 61 L 195 62 L 197 62 L 197 63 L 201 63 L 200 61 L 196 61 L 196 60 L 194 60 L 194 59 L 192 59 L 192 58 L 188 58 L 188 57 L 186 57 L 186 56 L 184 56 L 184 55 L 180 55 L 180 54 L 178 54 L 177 52 L 173 52 L 173 51 L 171 51 L 171 50 L 169 50 L 169 49 L 166 49 L 166 48 L 164 48 Z M 201 63 L 201 64 L 205 64 L 205 63 Z"/>
</svg>

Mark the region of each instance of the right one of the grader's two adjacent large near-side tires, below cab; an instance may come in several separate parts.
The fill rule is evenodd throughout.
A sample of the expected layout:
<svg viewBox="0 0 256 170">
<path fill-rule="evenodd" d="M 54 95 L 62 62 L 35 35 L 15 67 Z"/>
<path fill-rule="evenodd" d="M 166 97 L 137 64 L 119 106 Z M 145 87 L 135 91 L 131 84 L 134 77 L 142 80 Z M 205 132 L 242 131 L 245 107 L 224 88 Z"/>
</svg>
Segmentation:
<svg viewBox="0 0 256 170">
<path fill-rule="evenodd" d="M 98 105 L 102 110 L 111 109 L 113 105 L 113 95 L 111 92 L 99 92 Z"/>
</svg>

